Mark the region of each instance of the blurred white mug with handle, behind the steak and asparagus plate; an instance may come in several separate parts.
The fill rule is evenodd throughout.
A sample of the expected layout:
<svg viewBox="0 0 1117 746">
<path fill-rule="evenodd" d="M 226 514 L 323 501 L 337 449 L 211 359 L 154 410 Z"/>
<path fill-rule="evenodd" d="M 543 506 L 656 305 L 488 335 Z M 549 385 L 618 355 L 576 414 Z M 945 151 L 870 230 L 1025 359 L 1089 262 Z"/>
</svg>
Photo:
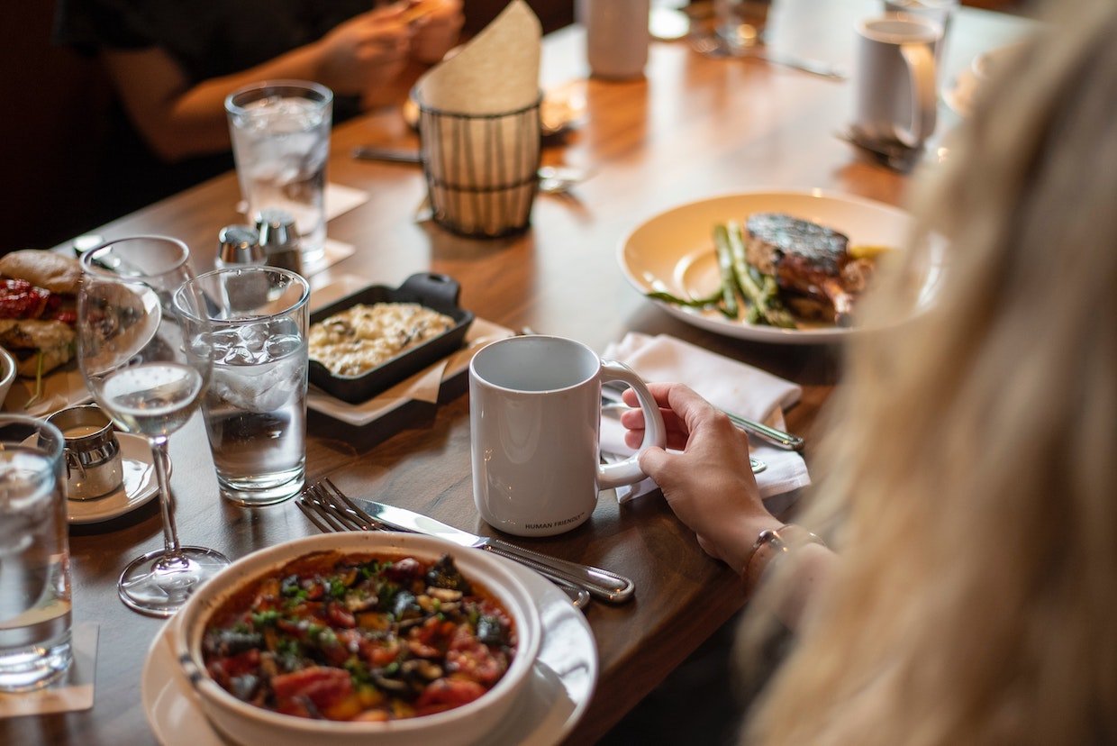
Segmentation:
<svg viewBox="0 0 1117 746">
<path fill-rule="evenodd" d="M 890 15 L 857 25 L 855 126 L 868 137 L 920 147 L 935 131 L 935 44 L 943 27 Z"/>
</svg>

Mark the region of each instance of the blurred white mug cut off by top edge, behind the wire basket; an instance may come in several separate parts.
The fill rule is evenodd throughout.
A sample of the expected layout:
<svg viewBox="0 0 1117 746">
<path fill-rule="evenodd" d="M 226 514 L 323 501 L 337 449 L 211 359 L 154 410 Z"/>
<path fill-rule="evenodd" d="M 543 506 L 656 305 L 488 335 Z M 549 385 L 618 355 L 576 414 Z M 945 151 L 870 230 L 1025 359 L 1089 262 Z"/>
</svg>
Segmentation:
<svg viewBox="0 0 1117 746">
<path fill-rule="evenodd" d="M 577 0 L 585 27 L 585 55 L 598 78 L 624 80 L 643 75 L 648 64 L 650 0 Z"/>
</svg>

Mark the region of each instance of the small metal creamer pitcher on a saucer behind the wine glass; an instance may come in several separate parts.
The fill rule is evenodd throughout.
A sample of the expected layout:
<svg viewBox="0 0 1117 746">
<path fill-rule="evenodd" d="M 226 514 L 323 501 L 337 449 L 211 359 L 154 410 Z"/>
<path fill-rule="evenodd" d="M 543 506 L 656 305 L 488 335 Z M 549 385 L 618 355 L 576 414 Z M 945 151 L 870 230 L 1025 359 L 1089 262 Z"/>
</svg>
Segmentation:
<svg viewBox="0 0 1117 746">
<path fill-rule="evenodd" d="M 124 480 L 121 443 L 113 422 L 96 404 L 59 410 L 47 421 L 61 431 L 66 447 L 66 498 L 92 500 Z"/>
</svg>

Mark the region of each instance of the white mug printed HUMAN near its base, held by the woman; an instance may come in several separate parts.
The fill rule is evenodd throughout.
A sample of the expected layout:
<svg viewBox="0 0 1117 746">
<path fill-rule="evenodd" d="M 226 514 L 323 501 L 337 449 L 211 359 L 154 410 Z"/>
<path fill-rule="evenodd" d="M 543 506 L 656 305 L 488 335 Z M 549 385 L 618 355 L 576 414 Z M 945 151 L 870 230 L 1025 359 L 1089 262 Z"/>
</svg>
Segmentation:
<svg viewBox="0 0 1117 746">
<path fill-rule="evenodd" d="M 666 443 L 663 420 L 631 369 L 580 342 L 519 336 L 494 342 L 469 364 L 474 500 L 489 525 L 552 536 L 585 523 L 598 491 L 645 478 L 639 452 L 600 462 L 601 384 L 636 390 L 648 427 L 640 451 Z"/>
</svg>

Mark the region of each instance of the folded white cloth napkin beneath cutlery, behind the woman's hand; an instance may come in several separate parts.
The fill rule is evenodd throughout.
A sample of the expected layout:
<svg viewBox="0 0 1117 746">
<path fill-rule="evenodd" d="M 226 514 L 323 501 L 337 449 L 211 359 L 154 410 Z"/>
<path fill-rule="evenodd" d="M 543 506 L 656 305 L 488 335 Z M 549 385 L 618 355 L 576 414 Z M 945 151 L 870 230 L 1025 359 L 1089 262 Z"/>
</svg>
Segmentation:
<svg viewBox="0 0 1117 746">
<path fill-rule="evenodd" d="M 781 430 L 786 427 L 784 408 L 802 395 L 802 389 L 791 381 L 662 334 L 651 337 L 630 333 L 620 343 L 609 345 L 603 356 L 624 363 L 645 381 L 685 383 L 720 409 Z M 762 497 L 783 495 L 811 484 L 806 463 L 799 453 L 755 438 L 750 444 L 752 455 L 767 465 L 767 469 L 756 475 Z M 624 428 L 613 418 L 602 419 L 601 450 L 619 456 L 632 453 L 624 444 Z M 619 488 L 617 499 L 626 503 L 656 489 L 655 481 L 645 479 Z"/>
</svg>

